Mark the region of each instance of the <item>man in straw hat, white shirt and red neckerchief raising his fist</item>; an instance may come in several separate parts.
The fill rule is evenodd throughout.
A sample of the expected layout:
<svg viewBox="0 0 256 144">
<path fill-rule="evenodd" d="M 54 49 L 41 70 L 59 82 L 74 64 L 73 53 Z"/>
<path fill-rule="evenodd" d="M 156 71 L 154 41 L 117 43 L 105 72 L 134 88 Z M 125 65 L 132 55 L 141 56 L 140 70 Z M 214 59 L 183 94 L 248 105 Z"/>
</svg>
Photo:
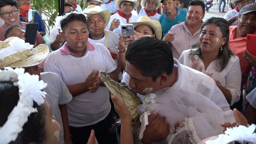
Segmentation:
<svg viewBox="0 0 256 144">
<path fill-rule="evenodd" d="M 105 30 L 113 31 L 121 35 L 121 25 L 129 22 L 136 22 L 138 17 L 131 13 L 132 10 L 139 6 L 137 0 L 117 0 L 116 7 L 117 13 L 110 17 L 110 21 Z"/>
</svg>

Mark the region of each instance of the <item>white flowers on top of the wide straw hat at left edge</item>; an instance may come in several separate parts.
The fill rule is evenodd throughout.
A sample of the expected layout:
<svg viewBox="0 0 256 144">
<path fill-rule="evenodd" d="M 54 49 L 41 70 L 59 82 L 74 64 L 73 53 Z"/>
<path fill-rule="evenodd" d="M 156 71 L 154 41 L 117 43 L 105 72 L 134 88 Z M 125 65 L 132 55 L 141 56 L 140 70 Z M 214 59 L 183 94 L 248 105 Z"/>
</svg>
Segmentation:
<svg viewBox="0 0 256 144">
<path fill-rule="evenodd" d="M 20 39 L 18 37 L 13 38 L 9 42 L 8 47 L 0 49 L 0 60 L 4 60 L 5 57 L 10 56 L 17 52 L 22 52 L 24 50 L 31 50 L 33 48 L 33 45 L 29 43 L 25 43 L 23 39 Z"/>
</svg>

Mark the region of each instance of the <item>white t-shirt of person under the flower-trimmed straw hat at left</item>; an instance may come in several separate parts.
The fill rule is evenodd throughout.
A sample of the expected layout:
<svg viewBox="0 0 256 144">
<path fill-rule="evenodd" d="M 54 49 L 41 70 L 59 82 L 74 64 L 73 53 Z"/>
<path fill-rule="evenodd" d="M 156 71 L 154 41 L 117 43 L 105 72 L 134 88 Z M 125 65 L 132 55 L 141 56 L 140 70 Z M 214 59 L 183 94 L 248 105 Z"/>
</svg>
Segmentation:
<svg viewBox="0 0 256 144">
<path fill-rule="evenodd" d="M 52 113 L 56 117 L 57 122 L 60 124 L 59 144 L 64 144 L 64 131 L 59 105 L 70 102 L 72 95 L 60 76 L 56 73 L 44 72 L 40 74 L 40 77 L 45 83 L 47 83 L 47 87 L 44 89 L 47 93 L 45 98 L 52 108 Z"/>
</svg>

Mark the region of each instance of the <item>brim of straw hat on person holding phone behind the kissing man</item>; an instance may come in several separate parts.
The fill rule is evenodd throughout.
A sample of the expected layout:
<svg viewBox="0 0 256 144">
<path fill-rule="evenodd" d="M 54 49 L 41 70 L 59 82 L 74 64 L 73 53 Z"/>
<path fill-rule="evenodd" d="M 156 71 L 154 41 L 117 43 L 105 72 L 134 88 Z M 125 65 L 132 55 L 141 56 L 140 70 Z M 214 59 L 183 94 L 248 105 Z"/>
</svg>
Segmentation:
<svg viewBox="0 0 256 144">
<path fill-rule="evenodd" d="M 155 31 L 156 38 L 161 40 L 162 38 L 162 27 L 159 21 L 157 20 L 150 20 L 150 21 L 142 21 L 142 22 L 131 22 L 128 24 L 133 24 L 133 27 L 135 29 L 138 25 L 147 25 Z"/>
</svg>

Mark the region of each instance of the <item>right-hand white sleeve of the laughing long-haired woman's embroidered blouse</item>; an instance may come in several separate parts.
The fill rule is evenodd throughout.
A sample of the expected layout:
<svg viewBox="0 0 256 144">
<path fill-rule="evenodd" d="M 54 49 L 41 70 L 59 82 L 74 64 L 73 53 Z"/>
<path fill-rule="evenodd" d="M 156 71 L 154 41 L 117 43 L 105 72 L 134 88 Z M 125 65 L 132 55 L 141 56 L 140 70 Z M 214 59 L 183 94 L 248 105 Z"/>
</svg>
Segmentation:
<svg viewBox="0 0 256 144">
<path fill-rule="evenodd" d="M 227 76 L 225 77 L 226 86 L 231 95 L 231 103 L 233 105 L 240 99 L 241 95 L 241 68 L 239 63 L 239 58 L 237 56 L 232 56 L 229 60 L 230 65 L 227 65 L 227 69 L 229 70 Z"/>
</svg>

